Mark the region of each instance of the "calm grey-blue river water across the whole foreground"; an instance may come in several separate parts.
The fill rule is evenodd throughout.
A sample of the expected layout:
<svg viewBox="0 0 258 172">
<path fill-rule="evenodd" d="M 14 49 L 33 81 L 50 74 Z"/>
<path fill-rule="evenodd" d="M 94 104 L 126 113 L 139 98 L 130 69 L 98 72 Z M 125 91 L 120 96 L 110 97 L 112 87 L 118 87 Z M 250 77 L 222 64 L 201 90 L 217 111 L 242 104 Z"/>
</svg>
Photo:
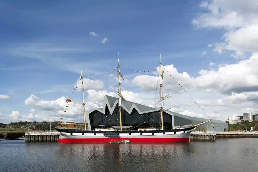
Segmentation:
<svg viewBox="0 0 258 172">
<path fill-rule="evenodd" d="M 258 138 L 183 144 L 0 141 L 3 172 L 256 172 Z"/>
</svg>

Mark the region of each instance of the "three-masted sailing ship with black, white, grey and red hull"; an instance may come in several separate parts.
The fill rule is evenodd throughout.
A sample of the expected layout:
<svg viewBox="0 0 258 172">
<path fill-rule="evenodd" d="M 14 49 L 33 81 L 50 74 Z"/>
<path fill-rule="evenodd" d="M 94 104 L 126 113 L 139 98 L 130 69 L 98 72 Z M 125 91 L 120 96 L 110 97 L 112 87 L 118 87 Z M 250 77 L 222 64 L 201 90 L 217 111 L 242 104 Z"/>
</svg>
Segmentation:
<svg viewBox="0 0 258 172">
<path fill-rule="evenodd" d="M 107 110 L 107 113 L 104 114 L 104 118 L 107 118 L 107 121 L 110 118 L 108 116 L 116 116 L 119 115 L 119 118 L 117 116 L 116 120 L 114 121 L 114 124 L 110 125 L 95 125 L 95 127 L 91 126 L 90 119 L 87 119 L 88 125 L 86 125 L 86 115 L 85 115 L 85 98 L 84 98 L 84 88 L 83 88 L 83 75 L 81 72 L 81 84 L 82 84 L 82 92 L 83 92 L 83 98 L 82 98 L 82 106 L 83 106 L 83 117 L 84 117 L 84 128 L 71 128 L 71 127 L 64 127 L 59 126 L 56 127 L 56 130 L 60 132 L 60 136 L 58 139 L 58 142 L 61 143 L 67 143 L 67 142 L 87 142 L 87 143 L 97 143 L 97 142 L 131 142 L 131 143 L 158 143 L 158 142 L 189 142 L 190 141 L 190 133 L 196 129 L 197 127 L 203 125 L 204 123 L 210 122 L 211 120 L 208 120 L 206 122 L 203 122 L 201 124 L 197 125 L 184 125 L 184 126 L 170 126 L 165 127 L 167 124 L 164 120 L 166 120 L 166 117 L 164 118 L 164 113 L 166 114 L 166 111 L 171 109 L 165 109 L 164 108 L 164 100 L 167 99 L 169 96 L 165 95 L 163 96 L 163 75 L 164 71 L 161 67 L 161 59 L 159 62 L 159 91 L 160 91 L 160 97 L 159 97 L 159 109 L 156 109 L 156 116 L 159 118 L 156 118 L 156 120 L 160 120 L 158 123 L 159 125 L 156 125 L 155 127 L 148 125 L 144 126 L 144 124 L 148 123 L 148 121 L 142 122 L 141 125 L 136 126 L 123 126 L 125 122 L 126 117 L 123 117 L 122 120 L 122 112 L 126 107 L 124 106 L 124 103 L 126 103 L 126 100 L 124 99 L 122 93 L 121 93 L 121 79 L 124 80 L 124 77 L 122 76 L 120 72 L 120 60 L 119 60 L 119 54 L 118 54 L 118 103 L 115 103 L 116 110 L 119 111 L 119 113 L 116 112 L 109 112 L 110 109 Z M 117 98 L 114 97 L 114 99 L 117 100 Z M 132 103 L 132 102 L 131 102 Z M 107 108 L 106 108 L 107 109 Z M 155 111 L 155 110 L 154 110 Z M 132 112 L 131 112 L 132 113 Z M 138 114 L 140 114 L 138 112 Z M 98 113 L 95 115 L 99 115 Z M 102 114 L 103 115 L 103 114 Z M 132 114 L 129 114 L 132 115 Z M 140 116 L 144 116 L 148 114 L 140 114 Z M 87 115 L 87 118 L 89 118 L 89 115 Z M 109 119 L 108 119 L 109 118 Z M 102 118 L 103 119 L 103 118 Z M 150 120 L 153 120 L 153 116 L 148 118 Z M 119 121 L 119 122 L 117 122 Z M 63 123 L 59 123 L 62 125 Z M 118 125 L 119 124 L 119 125 Z M 157 124 L 153 122 L 152 124 Z M 171 123 L 172 124 L 172 123 Z M 71 126 L 73 124 L 68 124 L 68 126 Z M 102 126 L 102 128 L 100 127 Z M 91 130 L 91 128 L 95 128 Z"/>
</svg>

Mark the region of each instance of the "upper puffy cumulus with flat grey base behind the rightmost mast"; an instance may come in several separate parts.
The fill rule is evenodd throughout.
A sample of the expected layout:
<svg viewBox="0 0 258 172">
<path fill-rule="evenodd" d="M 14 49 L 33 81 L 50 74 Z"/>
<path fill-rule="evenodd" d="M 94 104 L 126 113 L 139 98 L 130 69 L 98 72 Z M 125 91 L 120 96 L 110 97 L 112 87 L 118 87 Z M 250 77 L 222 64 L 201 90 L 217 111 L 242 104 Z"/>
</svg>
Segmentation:
<svg viewBox="0 0 258 172">
<path fill-rule="evenodd" d="M 177 69 L 171 64 L 164 67 L 174 79 L 164 71 L 163 85 L 166 89 L 174 92 L 182 91 L 179 84 L 184 89 L 204 90 L 210 93 L 231 94 L 232 92 L 258 91 L 257 65 L 258 54 L 253 54 L 247 60 L 221 66 L 217 70 L 200 70 L 199 76 L 190 77 L 186 72 L 177 72 Z M 157 73 L 155 74 L 157 75 Z M 134 77 L 132 83 L 145 91 L 156 90 L 158 79 L 158 76 L 139 75 Z"/>
</svg>

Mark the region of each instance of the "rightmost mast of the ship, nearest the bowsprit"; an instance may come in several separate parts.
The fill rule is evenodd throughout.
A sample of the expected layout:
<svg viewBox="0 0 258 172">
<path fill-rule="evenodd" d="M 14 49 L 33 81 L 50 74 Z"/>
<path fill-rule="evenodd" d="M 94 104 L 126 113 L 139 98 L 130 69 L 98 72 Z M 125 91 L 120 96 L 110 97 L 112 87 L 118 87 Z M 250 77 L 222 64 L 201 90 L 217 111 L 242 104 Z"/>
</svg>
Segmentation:
<svg viewBox="0 0 258 172">
<path fill-rule="evenodd" d="M 160 112 L 159 113 L 161 114 L 161 127 L 162 127 L 162 130 L 164 130 L 163 112 L 171 109 L 172 107 L 164 110 L 164 100 L 171 97 L 171 96 L 168 96 L 169 94 L 167 94 L 163 97 L 163 91 L 162 91 L 163 83 L 162 83 L 162 80 L 163 80 L 164 71 L 161 68 L 161 54 L 159 55 L 159 70 L 160 70 L 160 76 L 159 76 L 159 79 L 160 79 L 160 99 L 159 99 Z"/>
</svg>

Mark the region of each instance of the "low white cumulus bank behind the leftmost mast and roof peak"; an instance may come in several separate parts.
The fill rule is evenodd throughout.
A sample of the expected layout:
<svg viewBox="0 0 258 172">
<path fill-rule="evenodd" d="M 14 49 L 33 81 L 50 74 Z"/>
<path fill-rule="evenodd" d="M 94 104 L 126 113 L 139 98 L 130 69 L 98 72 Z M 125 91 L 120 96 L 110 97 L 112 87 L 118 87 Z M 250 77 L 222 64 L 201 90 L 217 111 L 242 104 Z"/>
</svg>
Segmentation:
<svg viewBox="0 0 258 172">
<path fill-rule="evenodd" d="M 106 90 L 95 91 L 93 89 L 87 90 L 87 99 L 85 103 L 85 111 L 86 113 L 93 110 L 96 107 L 103 107 L 103 101 L 105 95 L 110 95 L 114 97 L 118 97 L 117 93 L 107 92 Z M 139 97 L 137 93 L 132 91 L 122 91 L 123 97 L 126 101 L 133 101 L 136 103 L 142 103 L 142 99 Z M 69 107 L 67 106 L 66 98 L 60 97 L 56 100 L 42 100 L 36 95 L 30 95 L 24 103 L 25 105 L 32 106 L 34 109 L 30 111 L 29 115 L 22 115 L 18 111 L 13 111 L 9 117 L 14 120 L 27 120 L 32 121 L 31 119 L 37 119 L 37 121 L 57 121 L 60 116 L 64 116 L 63 119 L 65 121 L 74 121 L 74 122 L 82 122 L 80 120 L 83 119 L 83 109 L 80 104 L 81 101 L 78 101 L 78 97 L 71 97 L 75 101 L 69 103 Z M 65 108 L 67 108 L 66 112 L 64 112 Z M 37 113 L 36 113 L 37 111 Z"/>
</svg>

